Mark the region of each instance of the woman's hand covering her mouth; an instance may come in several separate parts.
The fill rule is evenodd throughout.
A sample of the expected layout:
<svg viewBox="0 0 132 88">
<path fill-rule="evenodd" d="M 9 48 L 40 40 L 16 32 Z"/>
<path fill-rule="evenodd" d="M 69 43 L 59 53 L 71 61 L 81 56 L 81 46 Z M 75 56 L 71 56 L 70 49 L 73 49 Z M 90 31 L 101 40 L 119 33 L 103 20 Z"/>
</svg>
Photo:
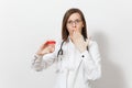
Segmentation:
<svg viewBox="0 0 132 88">
<path fill-rule="evenodd" d="M 80 53 L 85 52 L 88 46 L 88 40 L 84 40 L 84 36 L 77 30 L 70 35 L 72 41 L 75 46 L 80 51 Z"/>
</svg>

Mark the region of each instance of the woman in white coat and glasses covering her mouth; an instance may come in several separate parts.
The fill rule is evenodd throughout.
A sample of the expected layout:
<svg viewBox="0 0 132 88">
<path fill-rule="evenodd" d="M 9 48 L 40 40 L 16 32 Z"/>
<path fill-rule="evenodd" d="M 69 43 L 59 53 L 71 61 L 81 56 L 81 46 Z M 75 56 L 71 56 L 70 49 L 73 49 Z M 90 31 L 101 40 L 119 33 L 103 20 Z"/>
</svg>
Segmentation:
<svg viewBox="0 0 132 88">
<path fill-rule="evenodd" d="M 33 68 L 42 70 L 56 63 L 55 88 L 90 88 L 90 81 L 101 76 L 100 59 L 98 44 L 87 36 L 82 12 L 72 8 L 63 19 L 62 41 L 42 44 Z"/>
</svg>

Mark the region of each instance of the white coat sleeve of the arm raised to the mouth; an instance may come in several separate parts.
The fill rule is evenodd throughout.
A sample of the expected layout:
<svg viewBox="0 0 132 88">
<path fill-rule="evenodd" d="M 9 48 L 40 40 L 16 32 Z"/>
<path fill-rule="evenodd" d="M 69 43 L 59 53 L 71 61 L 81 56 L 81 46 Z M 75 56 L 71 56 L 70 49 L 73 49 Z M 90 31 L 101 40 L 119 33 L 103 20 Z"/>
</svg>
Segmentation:
<svg viewBox="0 0 132 88">
<path fill-rule="evenodd" d="M 89 45 L 89 51 L 81 53 L 81 59 L 86 80 L 96 80 L 101 77 L 101 57 L 95 41 Z"/>
</svg>

